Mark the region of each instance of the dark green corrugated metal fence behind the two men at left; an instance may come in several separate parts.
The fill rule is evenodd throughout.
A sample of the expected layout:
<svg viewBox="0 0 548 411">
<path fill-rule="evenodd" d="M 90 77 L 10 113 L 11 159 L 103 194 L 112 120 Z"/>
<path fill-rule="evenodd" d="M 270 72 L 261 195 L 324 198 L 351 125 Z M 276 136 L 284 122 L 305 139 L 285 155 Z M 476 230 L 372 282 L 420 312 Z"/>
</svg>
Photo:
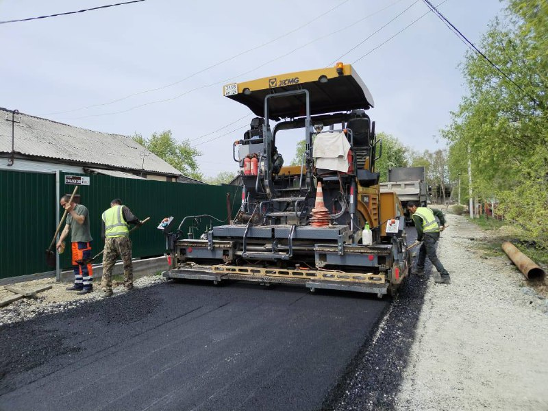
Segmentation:
<svg viewBox="0 0 548 411">
<path fill-rule="evenodd" d="M 71 194 L 74 189 L 74 186 L 64 184 L 65 175 L 84 174 L 60 173 L 61 195 Z M 110 207 L 112 199 L 121 199 L 138 219 L 150 217 L 147 224 L 131 234 L 134 258 L 161 256 L 165 252 L 165 238 L 156 228 L 164 217 L 174 216 L 177 225 L 185 216 L 195 214 L 212 214 L 226 220 L 227 194 L 230 195 L 232 216 L 241 204 L 241 189 L 235 186 L 86 176 L 90 178 L 90 185 L 79 186 L 78 194 L 80 202 L 90 212 L 93 255 L 103 249 L 101 214 Z M 0 171 L 0 190 L 0 278 L 51 271 L 45 264 L 45 249 L 55 232 L 55 203 L 58 201 L 55 175 Z M 61 267 L 69 268 L 69 245 L 60 257 Z"/>
</svg>

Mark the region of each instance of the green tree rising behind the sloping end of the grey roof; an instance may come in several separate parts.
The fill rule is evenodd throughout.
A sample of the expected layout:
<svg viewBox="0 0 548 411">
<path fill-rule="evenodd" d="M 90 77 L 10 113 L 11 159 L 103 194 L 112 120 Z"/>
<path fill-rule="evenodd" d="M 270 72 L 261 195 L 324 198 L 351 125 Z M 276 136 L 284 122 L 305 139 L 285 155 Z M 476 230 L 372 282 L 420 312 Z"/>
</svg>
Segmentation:
<svg viewBox="0 0 548 411">
<path fill-rule="evenodd" d="M 171 134 L 171 130 L 164 130 L 160 134 L 153 133 L 151 138 L 148 139 L 136 133 L 133 139 L 147 150 L 158 155 L 165 162 L 171 164 L 171 166 L 175 167 L 183 175 L 195 179 L 203 179 L 196 160 L 201 153 L 190 146 L 190 140 L 177 142 Z"/>
</svg>

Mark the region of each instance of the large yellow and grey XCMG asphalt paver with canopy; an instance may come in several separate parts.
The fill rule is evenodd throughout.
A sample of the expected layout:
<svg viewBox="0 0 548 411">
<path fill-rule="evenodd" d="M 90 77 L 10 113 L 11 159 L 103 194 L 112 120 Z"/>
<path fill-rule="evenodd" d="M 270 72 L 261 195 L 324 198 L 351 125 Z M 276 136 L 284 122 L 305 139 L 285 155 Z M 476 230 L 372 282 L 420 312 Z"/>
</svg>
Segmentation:
<svg viewBox="0 0 548 411">
<path fill-rule="evenodd" d="M 223 95 L 256 115 L 232 145 L 241 207 L 201 235 L 187 226 L 214 216 L 185 216 L 176 229 L 166 218 L 164 277 L 395 295 L 410 272 L 405 217 L 397 195 L 379 190 L 382 140 L 366 114 L 373 97 L 353 67 L 227 84 Z M 276 142 L 297 132 L 301 164 L 283 166 Z"/>
</svg>

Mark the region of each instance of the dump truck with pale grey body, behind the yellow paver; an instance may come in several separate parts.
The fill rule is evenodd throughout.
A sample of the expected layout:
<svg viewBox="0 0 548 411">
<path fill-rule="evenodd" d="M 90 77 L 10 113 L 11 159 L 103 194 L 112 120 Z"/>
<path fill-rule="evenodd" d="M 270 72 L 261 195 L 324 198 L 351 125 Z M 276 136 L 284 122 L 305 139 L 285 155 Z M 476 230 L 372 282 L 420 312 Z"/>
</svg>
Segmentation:
<svg viewBox="0 0 548 411">
<path fill-rule="evenodd" d="M 407 203 L 415 201 L 419 206 L 426 207 L 429 190 L 425 181 L 424 167 L 395 167 L 388 169 L 388 182 L 380 184 L 381 192 L 395 192 L 405 211 L 406 224 L 411 225 L 412 219 L 407 211 Z"/>
</svg>

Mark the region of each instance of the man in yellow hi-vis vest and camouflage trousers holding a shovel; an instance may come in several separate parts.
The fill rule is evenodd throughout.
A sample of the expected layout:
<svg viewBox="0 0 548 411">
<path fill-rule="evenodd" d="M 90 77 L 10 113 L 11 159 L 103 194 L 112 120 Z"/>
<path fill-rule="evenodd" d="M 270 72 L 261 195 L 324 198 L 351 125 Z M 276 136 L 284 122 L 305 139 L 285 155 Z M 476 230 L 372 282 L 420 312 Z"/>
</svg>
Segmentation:
<svg viewBox="0 0 548 411">
<path fill-rule="evenodd" d="M 112 269 L 117 258 L 124 263 L 124 288 L 133 288 L 132 240 L 129 239 L 129 224 L 142 225 L 129 208 L 122 206 L 121 199 L 114 199 L 110 208 L 101 216 L 101 235 L 105 239 L 103 249 L 103 277 L 101 288 L 105 297 L 112 295 Z"/>
</svg>

